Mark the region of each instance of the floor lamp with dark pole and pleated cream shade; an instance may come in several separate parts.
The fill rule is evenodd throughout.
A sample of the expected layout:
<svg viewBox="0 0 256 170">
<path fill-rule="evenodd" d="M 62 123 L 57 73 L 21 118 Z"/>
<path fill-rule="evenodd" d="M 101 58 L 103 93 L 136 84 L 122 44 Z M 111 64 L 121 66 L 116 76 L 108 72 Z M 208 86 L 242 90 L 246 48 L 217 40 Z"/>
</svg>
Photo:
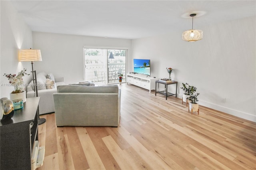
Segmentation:
<svg viewBox="0 0 256 170">
<path fill-rule="evenodd" d="M 36 80 L 36 70 L 33 67 L 33 61 L 42 61 L 41 51 L 40 49 L 22 49 L 19 55 L 19 61 L 31 61 L 32 65 L 32 75 L 33 75 L 33 86 L 34 86 L 34 93 L 36 93 L 36 97 L 38 97 L 38 90 L 37 90 L 37 80 Z M 42 125 L 46 122 L 46 119 L 39 117 L 39 107 L 37 107 L 38 111 L 38 125 Z"/>
</svg>

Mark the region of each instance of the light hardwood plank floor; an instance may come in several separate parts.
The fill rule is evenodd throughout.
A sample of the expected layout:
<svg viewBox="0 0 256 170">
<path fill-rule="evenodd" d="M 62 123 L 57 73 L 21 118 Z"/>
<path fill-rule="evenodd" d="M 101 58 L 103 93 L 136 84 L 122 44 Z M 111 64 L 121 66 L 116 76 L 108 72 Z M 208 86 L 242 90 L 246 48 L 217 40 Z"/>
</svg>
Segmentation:
<svg viewBox="0 0 256 170">
<path fill-rule="evenodd" d="M 256 169 L 256 123 L 202 106 L 191 115 L 174 96 L 119 87 L 118 128 L 56 127 L 54 113 L 40 116 L 38 170 Z"/>
</svg>

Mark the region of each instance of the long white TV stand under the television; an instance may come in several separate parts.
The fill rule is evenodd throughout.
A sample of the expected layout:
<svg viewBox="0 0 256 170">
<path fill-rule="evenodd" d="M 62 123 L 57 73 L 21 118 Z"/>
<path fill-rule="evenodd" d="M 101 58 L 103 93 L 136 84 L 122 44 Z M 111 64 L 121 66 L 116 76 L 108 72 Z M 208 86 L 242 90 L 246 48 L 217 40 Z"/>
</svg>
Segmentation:
<svg viewBox="0 0 256 170">
<path fill-rule="evenodd" d="M 127 84 L 130 83 L 138 87 L 148 89 L 149 93 L 151 92 L 151 90 L 155 89 L 156 80 L 157 78 L 146 77 L 146 75 L 140 75 L 140 74 L 134 74 L 134 73 L 127 74 Z"/>
</svg>

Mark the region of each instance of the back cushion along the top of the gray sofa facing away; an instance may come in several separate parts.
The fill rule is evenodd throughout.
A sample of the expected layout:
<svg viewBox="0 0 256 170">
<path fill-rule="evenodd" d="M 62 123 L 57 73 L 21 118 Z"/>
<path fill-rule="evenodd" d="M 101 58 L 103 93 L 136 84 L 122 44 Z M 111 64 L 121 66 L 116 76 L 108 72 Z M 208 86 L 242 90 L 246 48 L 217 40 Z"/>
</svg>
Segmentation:
<svg viewBox="0 0 256 170">
<path fill-rule="evenodd" d="M 84 85 L 59 85 L 58 93 L 118 93 L 118 85 L 84 86 Z"/>
</svg>

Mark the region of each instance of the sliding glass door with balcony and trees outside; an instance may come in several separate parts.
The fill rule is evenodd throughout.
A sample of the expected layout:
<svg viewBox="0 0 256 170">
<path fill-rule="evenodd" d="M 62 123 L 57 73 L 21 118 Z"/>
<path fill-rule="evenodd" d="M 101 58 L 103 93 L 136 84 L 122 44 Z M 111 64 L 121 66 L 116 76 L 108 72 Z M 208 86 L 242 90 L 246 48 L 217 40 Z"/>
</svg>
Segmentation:
<svg viewBox="0 0 256 170">
<path fill-rule="evenodd" d="M 125 82 L 127 49 L 84 48 L 84 80 L 96 85 Z"/>
</svg>

